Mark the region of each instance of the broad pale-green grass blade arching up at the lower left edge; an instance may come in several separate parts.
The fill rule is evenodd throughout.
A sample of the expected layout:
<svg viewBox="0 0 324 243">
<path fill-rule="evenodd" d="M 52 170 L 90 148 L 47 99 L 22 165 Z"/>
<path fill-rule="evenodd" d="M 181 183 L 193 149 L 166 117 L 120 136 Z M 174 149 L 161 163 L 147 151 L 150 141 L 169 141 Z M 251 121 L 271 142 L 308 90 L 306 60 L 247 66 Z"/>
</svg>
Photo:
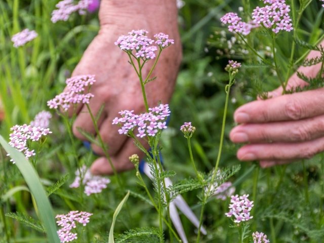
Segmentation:
<svg viewBox="0 0 324 243">
<path fill-rule="evenodd" d="M 44 225 L 48 241 L 50 243 L 60 243 L 60 239 L 56 232 L 57 227 L 52 206 L 35 169 L 32 167 L 26 157 L 17 149 L 11 147 L 1 135 L 0 144 L 4 147 L 7 153 L 10 153 L 10 157 L 16 162 L 15 165 L 18 167 L 20 173 L 24 177 L 31 194 L 34 196 L 37 205 L 38 217 L 41 219 Z"/>
</svg>

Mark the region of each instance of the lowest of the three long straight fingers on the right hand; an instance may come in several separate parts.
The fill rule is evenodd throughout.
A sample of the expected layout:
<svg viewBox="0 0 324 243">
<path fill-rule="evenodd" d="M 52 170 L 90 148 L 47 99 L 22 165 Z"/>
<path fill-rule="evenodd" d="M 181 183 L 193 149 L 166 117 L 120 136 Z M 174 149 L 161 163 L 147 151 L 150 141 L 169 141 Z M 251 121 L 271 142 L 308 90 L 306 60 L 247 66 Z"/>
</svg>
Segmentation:
<svg viewBox="0 0 324 243">
<path fill-rule="evenodd" d="M 249 144 L 237 151 L 237 158 L 249 160 L 291 160 L 310 158 L 324 150 L 324 138 L 300 143 Z"/>
</svg>

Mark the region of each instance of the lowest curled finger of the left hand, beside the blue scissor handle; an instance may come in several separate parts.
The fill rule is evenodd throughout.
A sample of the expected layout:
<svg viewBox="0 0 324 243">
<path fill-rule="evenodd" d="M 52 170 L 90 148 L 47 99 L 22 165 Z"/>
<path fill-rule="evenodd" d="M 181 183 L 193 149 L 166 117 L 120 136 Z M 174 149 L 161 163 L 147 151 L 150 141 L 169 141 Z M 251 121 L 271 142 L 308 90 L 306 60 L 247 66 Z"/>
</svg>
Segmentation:
<svg viewBox="0 0 324 243">
<path fill-rule="evenodd" d="M 117 155 L 111 156 L 111 163 L 117 172 L 123 172 L 134 168 L 134 165 L 129 160 L 129 157 L 133 154 L 138 154 L 140 158 L 144 156 L 144 153 L 134 145 L 133 139 L 128 138 L 123 149 L 120 150 Z M 113 170 L 108 159 L 100 157 L 92 164 L 91 173 L 94 175 L 111 175 L 113 174 Z"/>
</svg>

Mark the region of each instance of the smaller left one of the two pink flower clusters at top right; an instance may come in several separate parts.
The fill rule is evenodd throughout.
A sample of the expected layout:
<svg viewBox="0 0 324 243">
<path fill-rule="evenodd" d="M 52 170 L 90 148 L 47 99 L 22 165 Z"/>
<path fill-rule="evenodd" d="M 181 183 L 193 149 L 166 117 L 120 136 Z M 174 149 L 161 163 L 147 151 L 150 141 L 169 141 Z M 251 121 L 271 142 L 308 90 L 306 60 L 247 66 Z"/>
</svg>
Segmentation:
<svg viewBox="0 0 324 243">
<path fill-rule="evenodd" d="M 237 32 L 243 35 L 248 35 L 253 28 L 259 27 L 254 20 L 246 23 L 238 17 L 237 13 L 227 13 L 221 18 L 223 24 L 228 24 L 228 30 L 230 32 Z"/>
</svg>

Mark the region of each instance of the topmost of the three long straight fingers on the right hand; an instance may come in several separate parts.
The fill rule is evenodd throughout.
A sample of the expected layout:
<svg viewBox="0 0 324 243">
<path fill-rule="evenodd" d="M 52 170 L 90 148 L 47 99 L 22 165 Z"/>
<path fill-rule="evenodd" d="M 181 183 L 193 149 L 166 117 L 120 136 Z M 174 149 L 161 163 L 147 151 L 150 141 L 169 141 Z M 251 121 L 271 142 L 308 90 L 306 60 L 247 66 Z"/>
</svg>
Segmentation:
<svg viewBox="0 0 324 243">
<path fill-rule="evenodd" d="M 257 100 L 242 105 L 234 113 L 236 123 L 266 123 L 268 121 L 298 120 L 324 113 L 324 89 L 305 91 Z"/>
</svg>

